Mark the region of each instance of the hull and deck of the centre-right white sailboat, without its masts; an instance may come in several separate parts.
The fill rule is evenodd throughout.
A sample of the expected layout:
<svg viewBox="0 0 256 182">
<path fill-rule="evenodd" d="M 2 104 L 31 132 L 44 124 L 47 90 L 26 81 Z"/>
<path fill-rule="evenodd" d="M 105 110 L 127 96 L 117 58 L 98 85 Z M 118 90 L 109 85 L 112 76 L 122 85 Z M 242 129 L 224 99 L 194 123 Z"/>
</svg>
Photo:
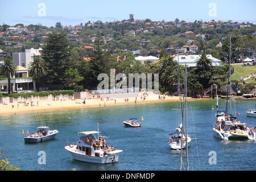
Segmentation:
<svg viewBox="0 0 256 182">
<path fill-rule="evenodd" d="M 186 138 L 188 142 L 191 142 L 191 138 L 186 134 L 181 132 L 182 124 L 180 124 L 179 128 L 176 129 L 175 133 L 171 133 L 169 137 L 169 145 L 173 150 L 180 150 L 181 147 L 186 147 Z M 182 143 L 182 144 L 181 144 Z"/>
</svg>

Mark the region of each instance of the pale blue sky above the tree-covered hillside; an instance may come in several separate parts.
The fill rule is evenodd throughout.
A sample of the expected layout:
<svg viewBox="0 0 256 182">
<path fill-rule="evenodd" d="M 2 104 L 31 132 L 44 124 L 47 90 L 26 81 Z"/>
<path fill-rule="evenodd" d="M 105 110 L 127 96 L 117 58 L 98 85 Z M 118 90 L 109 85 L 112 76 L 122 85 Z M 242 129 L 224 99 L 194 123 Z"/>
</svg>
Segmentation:
<svg viewBox="0 0 256 182">
<path fill-rule="evenodd" d="M 40 3 L 46 5 L 46 16 L 38 15 Z M 209 7 L 211 3 L 214 6 Z M 131 13 L 135 19 L 171 21 L 179 18 L 187 22 L 231 19 L 256 23 L 255 8 L 255 0 L 0 0 L 0 24 L 42 23 L 49 27 L 61 22 L 64 26 L 75 26 L 88 20 L 114 22 L 129 19 Z M 209 15 L 209 11 L 216 16 Z"/>
</svg>

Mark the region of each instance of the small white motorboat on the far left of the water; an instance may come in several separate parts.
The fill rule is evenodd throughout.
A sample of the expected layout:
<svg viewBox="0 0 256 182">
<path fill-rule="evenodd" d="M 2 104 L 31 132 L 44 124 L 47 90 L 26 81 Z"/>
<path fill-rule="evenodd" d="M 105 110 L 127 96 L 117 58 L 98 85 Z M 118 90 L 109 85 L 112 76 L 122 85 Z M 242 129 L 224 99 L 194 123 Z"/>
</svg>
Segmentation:
<svg viewBox="0 0 256 182">
<path fill-rule="evenodd" d="M 27 133 L 27 137 L 24 138 L 25 143 L 38 143 L 51 140 L 59 133 L 58 130 L 49 130 L 48 126 L 40 126 L 37 129 L 37 133 L 32 133 L 31 135 Z"/>
</svg>

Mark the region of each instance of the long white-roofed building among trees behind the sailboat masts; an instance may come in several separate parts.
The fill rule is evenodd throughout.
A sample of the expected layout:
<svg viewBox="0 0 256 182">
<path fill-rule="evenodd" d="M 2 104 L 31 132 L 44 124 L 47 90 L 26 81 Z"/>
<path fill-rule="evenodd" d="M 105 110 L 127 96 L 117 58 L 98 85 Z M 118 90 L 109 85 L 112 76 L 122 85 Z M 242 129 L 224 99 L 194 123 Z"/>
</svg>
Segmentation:
<svg viewBox="0 0 256 182">
<path fill-rule="evenodd" d="M 187 64 L 188 67 L 196 67 L 197 60 L 199 60 L 201 55 L 181 55 L 179 56 L 179 64 L 185 65 Z M 221 66 L 221 60 L 216 59 L 215 57 L 212 57 L 212 55 L 207 55 L 208 59 L 212 60 L 212 65 L 215 66 Z M 174 58 L 176 61 L 178 60 L 178 57 L 175 56 Z"/>
</svg>

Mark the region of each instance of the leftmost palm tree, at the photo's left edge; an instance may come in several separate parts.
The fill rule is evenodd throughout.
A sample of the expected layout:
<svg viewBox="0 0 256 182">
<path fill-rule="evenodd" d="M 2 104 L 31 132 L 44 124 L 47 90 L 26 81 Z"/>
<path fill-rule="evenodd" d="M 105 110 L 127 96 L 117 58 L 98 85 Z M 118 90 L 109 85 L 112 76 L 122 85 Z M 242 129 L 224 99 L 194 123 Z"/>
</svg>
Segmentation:
<svg viewBox="0 0 256 182">
<path fill-rule="evenodd" d="M 18 66 L 13 64 L 10 58 L 5 59 L 3 65 L 0 67 L 0 74 L 8 78 L 8 93 L 11 93 L 11 75 L 14 75 Z"/>
</svg>

